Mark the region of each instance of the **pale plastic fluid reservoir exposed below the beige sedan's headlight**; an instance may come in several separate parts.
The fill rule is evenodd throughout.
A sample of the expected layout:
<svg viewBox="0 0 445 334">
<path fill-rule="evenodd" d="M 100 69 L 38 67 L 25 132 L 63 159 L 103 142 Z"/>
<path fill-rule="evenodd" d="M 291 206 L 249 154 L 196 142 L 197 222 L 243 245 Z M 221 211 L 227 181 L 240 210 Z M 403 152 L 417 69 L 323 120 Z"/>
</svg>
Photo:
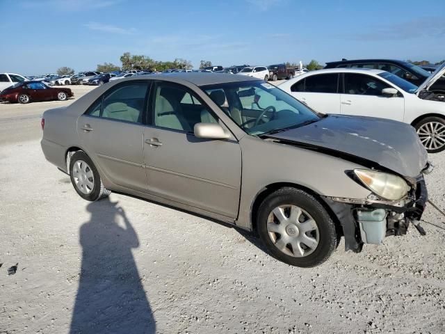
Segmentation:
<svg viewBox="0 0 445 334">
<path fill-rule="evenodd" d="M 387 212 L 384 209 L 357 210 L 356 214 L 362 241 L 365 244 L 382 244 L 387 233 Z"/>
</svg>

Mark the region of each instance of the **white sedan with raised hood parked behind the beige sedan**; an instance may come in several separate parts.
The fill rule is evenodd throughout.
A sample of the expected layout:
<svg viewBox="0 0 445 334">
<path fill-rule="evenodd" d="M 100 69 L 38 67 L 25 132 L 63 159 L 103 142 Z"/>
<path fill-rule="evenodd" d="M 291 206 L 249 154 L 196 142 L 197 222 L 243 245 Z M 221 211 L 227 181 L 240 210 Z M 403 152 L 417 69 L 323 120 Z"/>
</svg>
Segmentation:
<svg viewBox="0 0 445 334">
<path fill-rule="evenodd" d="M 334 68 L 302 74 L 279 88 L 321 113 L 389 118 L 416 128 L 428 152 L 445 150 L 445 64 L 417 87 L 382 70 Z"/>
</svg>

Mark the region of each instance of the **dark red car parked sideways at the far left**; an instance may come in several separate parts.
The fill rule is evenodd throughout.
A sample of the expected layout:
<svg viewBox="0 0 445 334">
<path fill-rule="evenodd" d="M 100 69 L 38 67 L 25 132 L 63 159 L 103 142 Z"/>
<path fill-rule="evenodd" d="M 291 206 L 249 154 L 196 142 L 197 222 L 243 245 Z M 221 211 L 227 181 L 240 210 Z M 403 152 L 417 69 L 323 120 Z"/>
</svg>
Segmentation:
<svg viewBox="0 0 445 334">
<path fill-rule="evenodd" d="M 35 101 L 65 101 L 74 94 L 70 88 L 52 88 L 41 81 L 22 81 L 0 92 L 0 101 L 29 103 Z"/>
</svg>

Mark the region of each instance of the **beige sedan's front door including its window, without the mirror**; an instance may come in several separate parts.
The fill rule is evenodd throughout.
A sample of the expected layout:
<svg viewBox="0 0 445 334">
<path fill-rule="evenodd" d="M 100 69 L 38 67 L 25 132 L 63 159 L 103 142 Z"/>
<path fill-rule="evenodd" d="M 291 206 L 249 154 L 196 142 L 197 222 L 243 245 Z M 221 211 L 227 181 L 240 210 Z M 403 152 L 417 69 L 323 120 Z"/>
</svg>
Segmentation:
<svg viewBox="0 0 445 334">
<path fill-rule="evenodd" d="M 150 101 L 152 126 L 145 127 L 143 148 L 149 193 L 236 218 L 241 189 L 238 142 L 193 135 L 195 124 L 218 120 L 189 88 L 159 83 Z"/>
</svg>

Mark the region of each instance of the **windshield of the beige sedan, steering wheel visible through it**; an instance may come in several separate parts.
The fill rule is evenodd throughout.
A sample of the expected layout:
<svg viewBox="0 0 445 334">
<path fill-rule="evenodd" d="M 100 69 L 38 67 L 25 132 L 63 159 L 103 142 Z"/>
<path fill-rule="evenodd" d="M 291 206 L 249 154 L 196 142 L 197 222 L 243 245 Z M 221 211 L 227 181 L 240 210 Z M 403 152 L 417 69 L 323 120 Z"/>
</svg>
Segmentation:
<svg viewBox="0 0 445 334">
<path fill-rule="evenodd" d="M 280 88 L 264 81 L 238 81 L 202 87 L 248 134 L 261 136 L 321 118 Z"/>
</svg>

